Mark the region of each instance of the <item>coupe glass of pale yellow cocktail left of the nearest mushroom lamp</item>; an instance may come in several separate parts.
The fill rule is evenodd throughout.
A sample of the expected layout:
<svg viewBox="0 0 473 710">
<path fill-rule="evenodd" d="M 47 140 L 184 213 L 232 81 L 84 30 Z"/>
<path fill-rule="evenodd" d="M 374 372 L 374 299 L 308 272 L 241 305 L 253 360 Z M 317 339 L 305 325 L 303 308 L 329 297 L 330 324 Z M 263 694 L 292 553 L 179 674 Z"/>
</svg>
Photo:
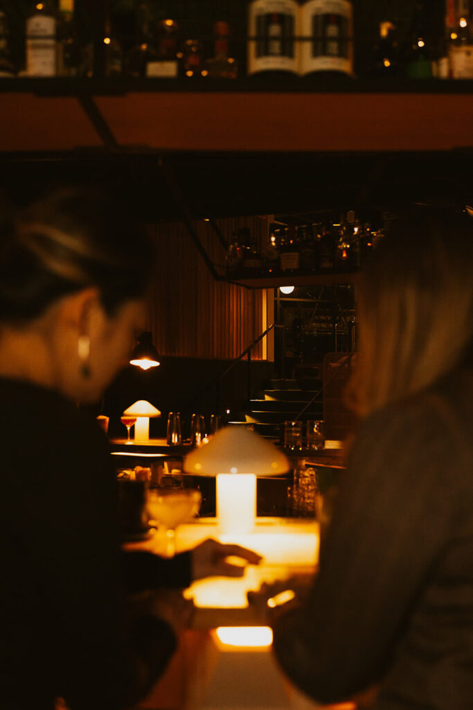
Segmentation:
<svg viewBox="0 0 473 710">
<path fill-rule="evenodd" d="M 166 556 L 176 554 L 176 528 L 199 513 L 202 496 L 194 488 L 151 488 L 147 507 L 150 524 L 166 531 Z"/>
</svg>

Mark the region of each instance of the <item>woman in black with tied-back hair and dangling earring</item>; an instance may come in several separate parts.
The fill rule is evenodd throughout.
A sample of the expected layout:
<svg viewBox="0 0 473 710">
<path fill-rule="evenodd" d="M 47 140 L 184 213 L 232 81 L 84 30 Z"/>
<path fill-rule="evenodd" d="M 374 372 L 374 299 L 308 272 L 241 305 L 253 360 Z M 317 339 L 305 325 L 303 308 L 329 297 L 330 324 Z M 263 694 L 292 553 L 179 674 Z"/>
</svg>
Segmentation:
<svg viewBox="0 0 473 710">
<path fill-rule="evenodd" d="M 0 229 L 0 708 L 118 710 L 176 645 L 172 614 L 126 621 L 127 594 L 183 588 L 259 557 L 207 540 L 121 554 L 117 483 L 96 402 L 126 364 L 153 249 L 117 200 L 57 192 Z M 179 616 L 177 614 L 177 616 Z"/>
</svg>

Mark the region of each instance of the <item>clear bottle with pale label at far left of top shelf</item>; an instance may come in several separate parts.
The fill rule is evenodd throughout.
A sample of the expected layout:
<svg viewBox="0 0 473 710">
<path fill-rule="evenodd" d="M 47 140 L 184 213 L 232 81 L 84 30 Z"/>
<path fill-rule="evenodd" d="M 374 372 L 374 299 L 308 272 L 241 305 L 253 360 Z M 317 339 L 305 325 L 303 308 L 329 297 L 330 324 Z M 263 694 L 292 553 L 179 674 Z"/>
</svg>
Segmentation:
<svg viewBox="0 0 473 710">
<path fill-rule="evenodd" d="M 57 22 L 48 0 L 38 2 L 26 18 L 26 75 L 57 74 Z"/>
</svg>

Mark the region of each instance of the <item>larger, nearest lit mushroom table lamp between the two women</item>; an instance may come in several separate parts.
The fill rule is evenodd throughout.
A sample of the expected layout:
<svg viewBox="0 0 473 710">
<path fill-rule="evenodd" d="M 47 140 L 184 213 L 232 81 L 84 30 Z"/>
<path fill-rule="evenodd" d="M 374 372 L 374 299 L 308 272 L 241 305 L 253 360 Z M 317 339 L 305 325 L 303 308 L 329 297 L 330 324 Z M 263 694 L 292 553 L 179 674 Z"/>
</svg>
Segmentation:
<svg viewBox="0 0 473 710">
<path fill-rule="evenodd" d="M 256 477 L 289 471 L 289 461 L 274 444 L 243 427 L 225 427 L 184 459 L 184 471 L 216 476 L 218 526 L 224 534 L 253 532 Z"/>
</svg>

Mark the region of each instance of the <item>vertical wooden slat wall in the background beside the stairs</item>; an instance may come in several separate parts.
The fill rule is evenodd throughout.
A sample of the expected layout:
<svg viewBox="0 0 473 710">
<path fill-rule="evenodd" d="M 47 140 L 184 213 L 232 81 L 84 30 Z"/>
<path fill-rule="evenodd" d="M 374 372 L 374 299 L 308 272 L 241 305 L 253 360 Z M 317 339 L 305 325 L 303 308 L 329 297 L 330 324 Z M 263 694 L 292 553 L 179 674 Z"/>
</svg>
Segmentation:
<svg viewBox="0 0 473 710">
<path fill-rule="evenodd" d="M 267 238 L 267 217 L 221 219 L 218 226 L 230 240 L 233 231 L 249 226 L 259 243 Z M 194 223 L 218 273 L 226 250 L 208 222 Z M 165 356 L 233 359 L 267 327 L 262 290 L 249 290 L 213 279 L 182 224 L 152 228 L 157 266 L 148 307 L 148 328 Z M 262 344 L 252 349 L 262 359 Z"/>
</svg>

